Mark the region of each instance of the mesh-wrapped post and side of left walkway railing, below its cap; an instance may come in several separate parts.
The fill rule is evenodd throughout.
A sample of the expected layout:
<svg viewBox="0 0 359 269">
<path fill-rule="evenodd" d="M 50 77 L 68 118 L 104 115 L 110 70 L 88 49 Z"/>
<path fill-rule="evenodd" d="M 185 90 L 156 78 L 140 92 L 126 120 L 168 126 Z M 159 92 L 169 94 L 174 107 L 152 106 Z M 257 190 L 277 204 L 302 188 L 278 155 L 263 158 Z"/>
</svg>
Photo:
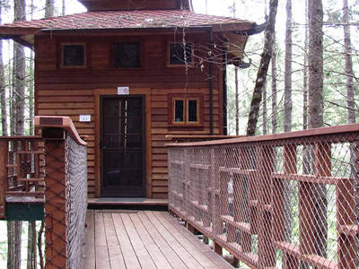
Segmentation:
<svg viewBox="0 0 359 269">
<path fill-rule="evenodd" d="M 46 268 L 77 269 L 83 259 L 87 150 L 70 135 L 58 136 L 45 137 Z"/>
</svg>

